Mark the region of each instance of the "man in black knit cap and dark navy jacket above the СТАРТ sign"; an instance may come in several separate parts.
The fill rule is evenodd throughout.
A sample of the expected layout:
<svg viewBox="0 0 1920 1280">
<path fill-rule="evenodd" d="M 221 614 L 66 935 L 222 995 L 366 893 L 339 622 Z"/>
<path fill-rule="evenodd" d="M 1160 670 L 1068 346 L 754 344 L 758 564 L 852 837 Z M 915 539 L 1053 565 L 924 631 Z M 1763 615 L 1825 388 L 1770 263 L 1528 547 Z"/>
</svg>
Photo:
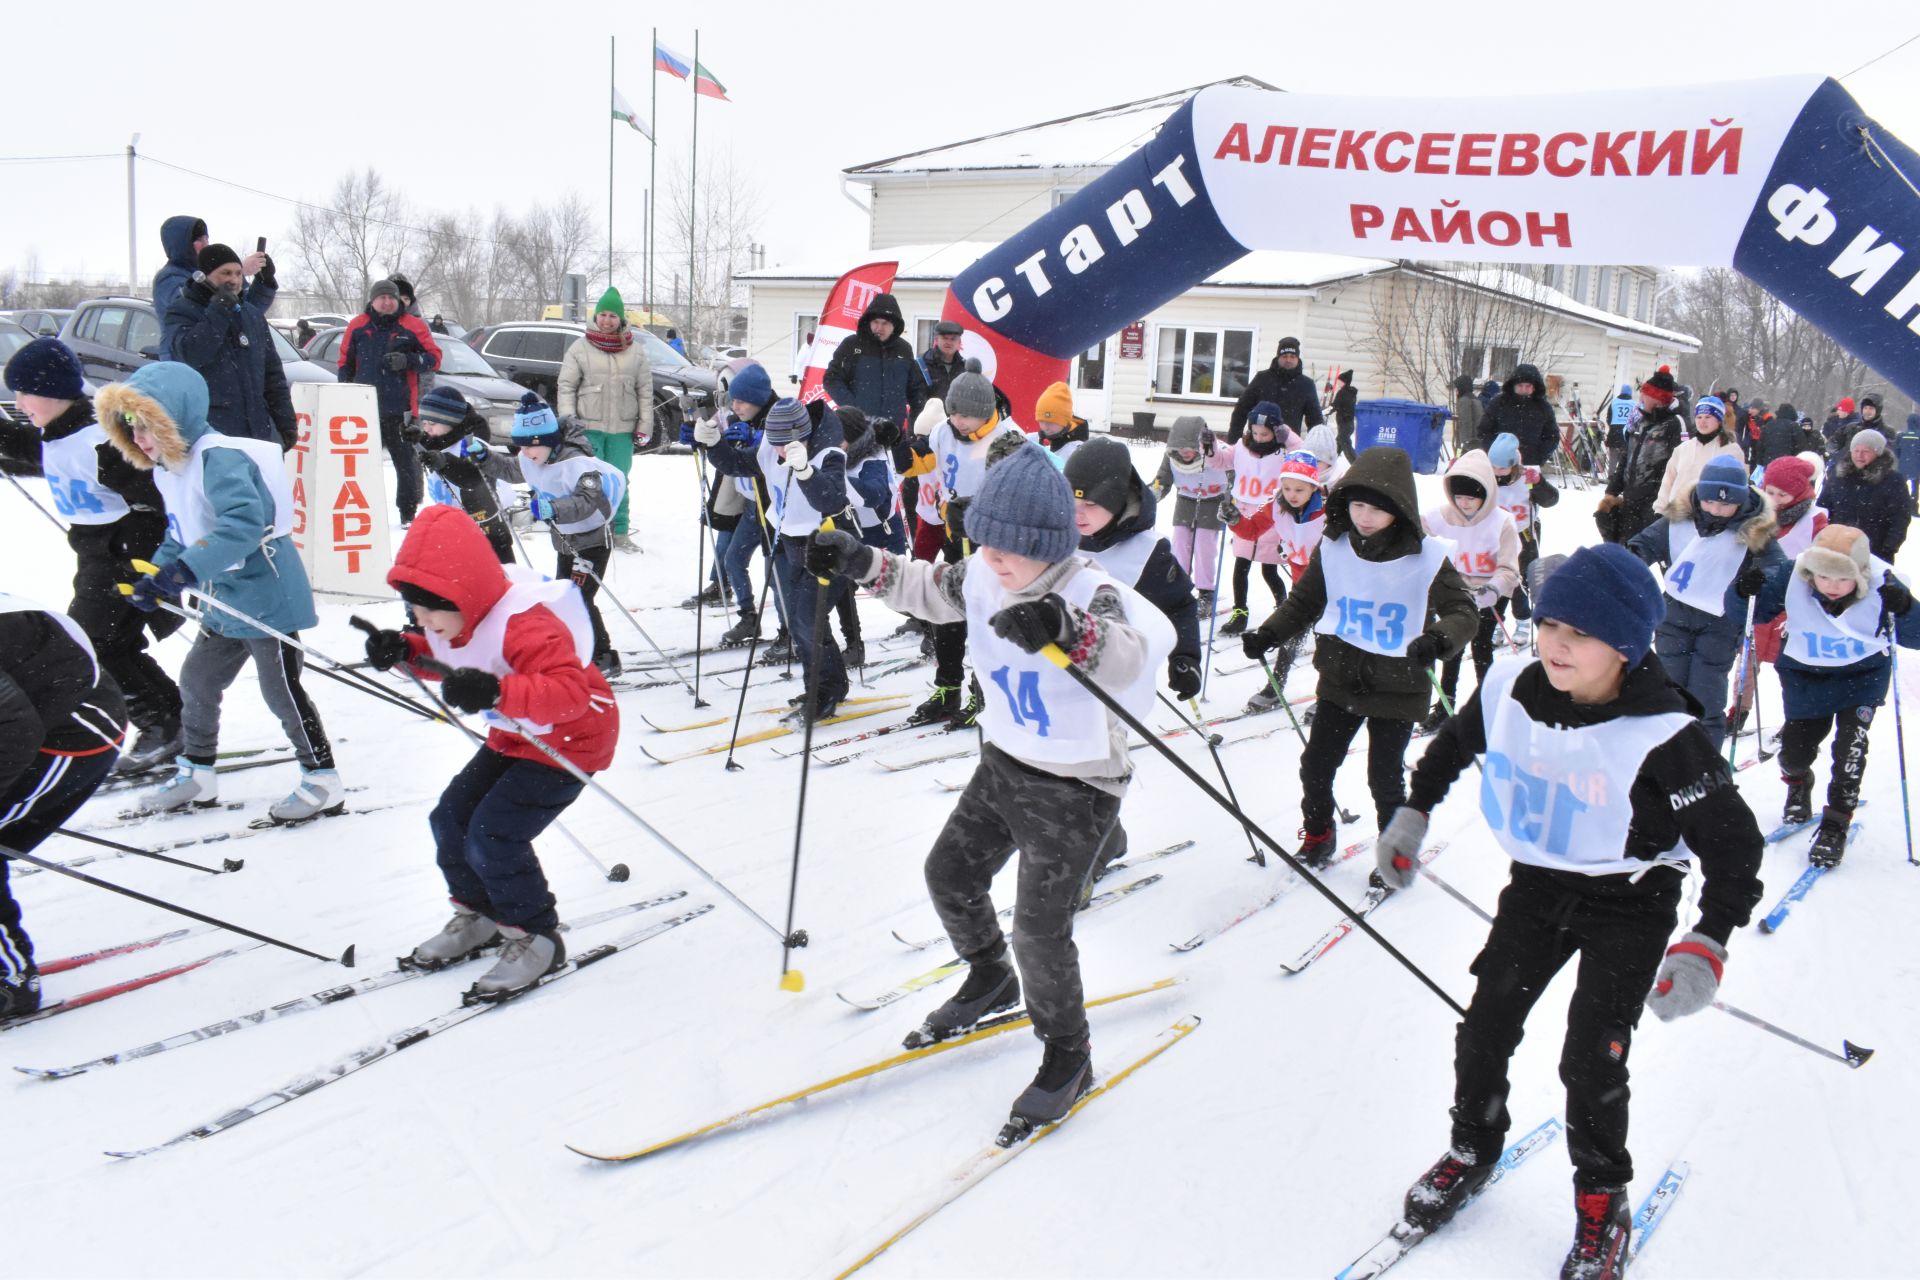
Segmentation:
<svg viewBox="0 0 1920 1280">
<path fill-rule="evenodd" d="M 273 332 L 242 297 L 240 255 L 225 244 L 200 249 L 200 271 L 167 307 L 165 359 L 207 380 L 207 422 L 221 436 L 294 447 L 294 399 Z"/>
</svg>

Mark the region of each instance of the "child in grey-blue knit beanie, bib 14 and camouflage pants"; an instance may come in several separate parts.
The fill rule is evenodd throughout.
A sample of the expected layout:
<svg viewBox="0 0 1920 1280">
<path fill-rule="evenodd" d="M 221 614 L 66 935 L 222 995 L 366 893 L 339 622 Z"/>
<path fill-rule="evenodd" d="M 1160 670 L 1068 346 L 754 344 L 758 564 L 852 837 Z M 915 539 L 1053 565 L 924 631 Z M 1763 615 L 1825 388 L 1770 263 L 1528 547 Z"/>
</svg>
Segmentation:
<svg viewBox="0 0 1920 1280">
<path fill-rule="evenodd" d="M 1154 700 L 1173 626 L 1133 587 L 1075 555 L 1073 491 L 1044 449 L 1023 443 L 987 468 L 966 510 L 977 547 L 954 564 L 889 555 L 847 532 L 814 537 L 808 572 L 868 583 L 891 608 L 935 624 L 968 622 L 970 658 L 987 679 L 979 768 L 927 854 L 927 892 L 968 979 L 908 1046 L 964 1034 L 1021 1000 L 1046 1044 L 1014 1117 L 1043 1125 L 1087 1092 L 1092 1046 L 1073 912 L 1116 841 L 1133 771 L 1127 727 L 1044 654 L 1133 714 Z M 1020 850 L 1012 958 L 993 877 Z M 1014 963 L 1020 971 L 1016 973 Z"/>
</svg>

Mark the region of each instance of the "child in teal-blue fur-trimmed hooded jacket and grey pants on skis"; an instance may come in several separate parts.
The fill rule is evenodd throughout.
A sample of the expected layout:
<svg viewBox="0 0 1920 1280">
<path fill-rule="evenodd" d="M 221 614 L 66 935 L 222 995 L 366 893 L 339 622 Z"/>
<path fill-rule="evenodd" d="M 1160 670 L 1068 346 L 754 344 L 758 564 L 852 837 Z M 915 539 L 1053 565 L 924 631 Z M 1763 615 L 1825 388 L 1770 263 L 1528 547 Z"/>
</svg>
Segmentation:
<svg viewBox="0 0 1920 1280">
<path fill-rule="evenodd" d="M 248 662 L 261 697 L 300 756 L 300 785 L 267 810 L 275 821 L 340 812 L 344 787 L 321 714 L 300 685 L 301 651 L 263 628 L 298 639 L 319 622 L 313 589 L 294 547 L 294 487 L 280 447 L 221 436 L 207 424 L 207 384 L 186 365 L 161 361 L 115 382 L 94 401 L 100 426 L 121 457 L 154 472 L 167 505 L 167 539 L 156 572 L 132 585 L 132 604 L 156 610 L 167 597 L 196 595 L 200 637 L 180 664 L 180 735 L 175 775 L 140 802 L 167 812 L 219 798 L 221 695 Z"/>
</svg>

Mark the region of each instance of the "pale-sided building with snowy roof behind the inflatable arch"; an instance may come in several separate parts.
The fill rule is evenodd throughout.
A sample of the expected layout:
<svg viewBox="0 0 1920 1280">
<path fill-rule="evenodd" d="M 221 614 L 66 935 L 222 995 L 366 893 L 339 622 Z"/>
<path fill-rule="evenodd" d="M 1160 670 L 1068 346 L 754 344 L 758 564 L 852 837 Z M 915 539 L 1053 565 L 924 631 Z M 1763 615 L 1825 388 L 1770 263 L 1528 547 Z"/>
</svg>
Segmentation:
<svg viewBox="0 0 1920 1280">
<path fill-rule="evenodd" d="M 1271 88 L 1250 77 L 1227 83 Z M 852 165 L 843 186 L 864 196 L 870 251 L 741 276 L 747 349 L 778 386 L 833 280 L 889 259 L 899 261 L 893 292 L 910 338 L 925 349 L 954 274 L 1133 154 L 1200 88 Z M 1699 342 L 1655 324 L 1657 290 L 1651 267 L 1500 269 L 1261 249 L 1081 353 L 1069 382 L 1094 428 L 1139 415 L 1165 428 L 1198 413 L 1225 430 L 1248 376 L 1283 336 L 1296 336 L 1309 374 L 1325 382 L 1352 368 L 1363 399 L 1448 403 L 1455 374 L 1505 378 L 1526 361 L 1563 416 L 1574 399 L 1592 416 L 1620 382 L 1638 384 L 1657 365 L 1684 380 Z M 1016 405 L 1016 418 L 1029 420 L 1031 407 Z"/>
</svg>

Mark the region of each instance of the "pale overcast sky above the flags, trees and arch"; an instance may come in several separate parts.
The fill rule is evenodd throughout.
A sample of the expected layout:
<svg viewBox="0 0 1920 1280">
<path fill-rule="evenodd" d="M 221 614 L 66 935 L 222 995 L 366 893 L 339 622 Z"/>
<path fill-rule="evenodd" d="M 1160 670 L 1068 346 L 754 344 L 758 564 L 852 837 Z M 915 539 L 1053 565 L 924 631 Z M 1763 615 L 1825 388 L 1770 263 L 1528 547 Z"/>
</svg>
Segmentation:
<svg viewBox="0 0 1920 1280">
<path fill-rule="evenodd" d="M 0 267 L 127 274 L 125 148 L 271 192 L 324 201 L 372 165 L 417 207 L 518 209 L 564 190 L 607 205 L 607 38 L 645 115 L 649 6 L 12 4 L 0 17 Z M 1571 4 L 682 4 L 660 40 L 693 54 L 732 102 L 701 102 L 701 152 L 751 171 L 768 263 L 852 255 L 866 223 L 839 171 L 1229 75 L 1294 92 L 1379 96 L 1657 92 L 1676 81 L 1843 75 L 1920 33 L 1912 0 L 1743 6 Z M 1060 13 L 1056 17 L 1054 13 Z M 680 17 L 684 13 L 684 17 Z M 541 21 L 543 19 L 543 21 Z M 684 155 L 687 81 L 657 77 L 662 161 Z M 1845 81 L 1864 109 L 1920 146 L 1920 42 Z M 639 244 L 645 138 L 618 129 L 616 225 Z M 269 248 L 286 200 L 157 163 L 138 175 L 138 269 L 157 228 L 194 213 L 215 238 Z M 601 213 L 605 217 L 605 213 Z M 662 249 L 664 255 L 664 249 Z M 662 273 L 666 267 L 660 269 Z M 626 282 L 622 282 L 626 284 Z"/>
</svg>

